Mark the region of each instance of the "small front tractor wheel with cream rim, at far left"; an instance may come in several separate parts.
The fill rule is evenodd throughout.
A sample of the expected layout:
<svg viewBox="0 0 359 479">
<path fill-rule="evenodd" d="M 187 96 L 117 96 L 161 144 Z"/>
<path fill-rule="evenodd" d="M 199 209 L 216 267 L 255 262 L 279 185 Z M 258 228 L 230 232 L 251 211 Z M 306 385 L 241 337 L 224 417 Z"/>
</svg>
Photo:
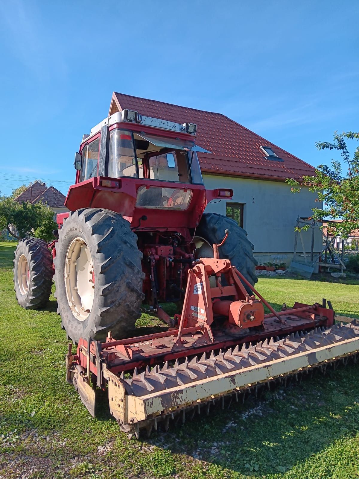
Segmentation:
<svg viewBox="0 0 359 479">
<path fill-rule="evenodd" d="M 45 306 L 51 295 L 52 255 L 46 241 L 22 239 L 15 250 L 14 290 L 19 305 L 25 309 Z"/>
</svg>

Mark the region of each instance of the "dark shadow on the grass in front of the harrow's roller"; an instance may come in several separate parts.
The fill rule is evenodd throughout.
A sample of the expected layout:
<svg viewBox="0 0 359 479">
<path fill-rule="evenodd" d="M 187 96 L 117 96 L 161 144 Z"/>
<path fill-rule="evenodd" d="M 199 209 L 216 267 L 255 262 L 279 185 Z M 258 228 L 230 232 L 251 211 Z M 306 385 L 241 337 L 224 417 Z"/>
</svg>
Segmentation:
<svg viewBox="0 0 359 479">
<path fill-rule="evenodd" d="M 143 441 L 248 476 L 283 473 L 338 439 L 357 435 L 359 373 L 358 368 L 347 367 L 324 378 L 317 373 L 285 389 L 285 399 L 283 389 L 277 388 L 260 400 L 232 403 L 227 411 L 211 407 L 208 417 L 195 415 L 184 425 L 173 425 L 168 433 L 157 432 Z M 350 392 L 349 376 L 355 384 Z M 320 398 L 317 391 L 322 391 Z M 244 419 L 248 409 L 258 406 L 261 415 L 255 409 L 257 416 Z"/>
</svg>

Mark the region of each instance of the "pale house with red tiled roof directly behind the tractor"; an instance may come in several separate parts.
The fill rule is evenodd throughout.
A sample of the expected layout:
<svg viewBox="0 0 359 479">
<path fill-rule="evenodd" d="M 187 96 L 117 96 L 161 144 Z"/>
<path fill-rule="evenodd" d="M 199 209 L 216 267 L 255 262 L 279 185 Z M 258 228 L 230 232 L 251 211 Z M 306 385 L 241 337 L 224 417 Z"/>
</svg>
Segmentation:
<svg viewBox="0 0 359 479">
<path fill-rule="evenodd" d="M 319 205 L 308 189 L 291 193 L 285 180 L 314 174 L 311 165 L 223 114 L 114 92 L 109 114 L 125 108 L 177 123 L 196 123 L 196 142 L 212 151 L 198 154 L 204 184 L 234 191 L 231 200 L 214 200 L 206 211 L 236 219 L 247 230 L 258 263 L 291 262 L 297 217 L 310 217 L 312 208 Z M 311 234 L 303 234 L 303 241 L 310 251 Z M 321 246 L 322 235 L 316 230 L 314 253 Z"/>
</svg>

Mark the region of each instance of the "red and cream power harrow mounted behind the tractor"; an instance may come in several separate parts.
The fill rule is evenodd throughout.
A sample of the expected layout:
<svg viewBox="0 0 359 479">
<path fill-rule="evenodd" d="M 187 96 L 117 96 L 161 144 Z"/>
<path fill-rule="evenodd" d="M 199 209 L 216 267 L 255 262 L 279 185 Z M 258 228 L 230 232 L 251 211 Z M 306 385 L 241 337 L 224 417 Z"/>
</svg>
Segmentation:
<svg viewBox="0 0 359 479">
<path fill-rule="evenodd" d="M 98 392 L 107 390 L 121 429 L 149 436 L 158 424 L 167 430 L 171 419 L 184 422 L 186 413 L 208 414 L 218 402 L 224 407 L 315 368 L 325 372 L 349 357 L 356 361 L 359 323 L 335 324 L 325 300 L 274 311 L 229 260 L 219 258 L 221 245 L 213 245 L 214 258 L 189 270 L 181 315 L 173 321 L 158 307 L 158 317 L 174 323 L 168 331 L 119 341 L 111 333 L 105 342 L 80 339 L 75 354 L 69 344 L 67 381 L 92 416 Z"/>
</svg>

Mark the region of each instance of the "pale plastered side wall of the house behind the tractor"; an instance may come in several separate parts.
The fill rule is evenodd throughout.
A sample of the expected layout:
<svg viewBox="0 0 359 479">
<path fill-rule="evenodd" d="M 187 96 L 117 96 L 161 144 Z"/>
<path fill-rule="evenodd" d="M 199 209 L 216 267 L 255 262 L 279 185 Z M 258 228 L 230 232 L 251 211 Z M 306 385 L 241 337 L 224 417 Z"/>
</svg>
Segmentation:
<svg viewBox="0 0 359 479">
<path fill-rule="evenodd" d="M 258 263 L 267 261 L 292 261 L 294 250 L 294 228 L 298 215 L 310 217 L 314 206 L 320 207 L 314 200 L 316 195 L 303 188 L 301 193 L 291 193 L 291 187 L 284 182 L 251 180 L 230 176 L 203 174 L 208 189 L 232 188 L 233 198 L 214 200 L 206 211 L 225 215 L 226 203 L 244 203 L 244 229 L 248 239 L 254 244 L 254 253 Z M 302 232 L 306 251 L 311 249 L 311 231 Z M 321 251 L 322 234 L 315 229 L 314 251 Z M 298 251 L 302 251 L 298 238 Z M 277 260 L 278 258 L 278 260 Z"/>
</svg>

